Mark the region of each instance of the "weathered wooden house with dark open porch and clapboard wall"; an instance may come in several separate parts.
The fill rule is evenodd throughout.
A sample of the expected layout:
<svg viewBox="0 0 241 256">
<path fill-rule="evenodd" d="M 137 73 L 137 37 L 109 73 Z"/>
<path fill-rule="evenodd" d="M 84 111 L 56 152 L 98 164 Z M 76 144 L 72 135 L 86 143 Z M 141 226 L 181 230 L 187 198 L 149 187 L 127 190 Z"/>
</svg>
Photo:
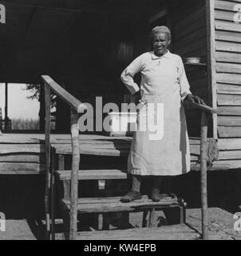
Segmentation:
<svg viewBox="0 0 241 256">
<path fill-rule="evenodd" d="M 128 94 L 120 80 L 121 71 L 133 58 L 150 50 L 148 35 L 152 27 L 166 25 L 172 30 L 173 53 L 180 54 L 184 62 L 186 58 L 202 60 L 185 65 L 192 93 L 219 110 L 209 122 L 208 137 L 214 138 L 219 148 L 219 161 L 214 162 L 212 169 L 241 167 L 240 1 L 8 0 L 0 3 L 6 6 L 6 24 L 0 23 L 0 82 L 41 84 L 41 130 L 45 119 L 42 74 L 48 74 L 81 102 L 94 105 L 95 98 L 101 96 L 103 104 L 121 104 L 124 94 Z M 198 110 L 186 110 L 186 114 L 189 136 L 196 137 L 190 140 L 195 166 L 199 160 L 201 116 Z M 56 120 L 58 133 L 69 132 L 69 106 L 61 98 L 57 98 Z M 56 149 L 62 170 L 62 154 L 71 151 L 63 149 L 65 139 L 62 136 L 50 141 L 61 144 Z M 6 174 L 7 169 L 9 174 L 33 174 L 41 173 L 45 166 L 49 168 L 50 159 L 42 161 L 42 154 L 49 147 L 41 145 L 41 136 L 36 139 L 20 138 L 18 134 L 1 136 L 0 143 L 5 144 L 0 151 L 0 172 Z M 21 143 L 25 146 L 19 146 Z M 102 149 L 102 154 L 120 155 L 113 149 L 113 143 L 111 146 L 112 153 Z M 88 146 L 82 150 L 85 154 L 93 153 Z M 126 156 L 128 150 L 125 151 Z M 13 154 L 14 158 L 15 154 L 19 157 L 11 165 Z M 26 154 L 32 159 L 27 164 Z"/>
</svg>

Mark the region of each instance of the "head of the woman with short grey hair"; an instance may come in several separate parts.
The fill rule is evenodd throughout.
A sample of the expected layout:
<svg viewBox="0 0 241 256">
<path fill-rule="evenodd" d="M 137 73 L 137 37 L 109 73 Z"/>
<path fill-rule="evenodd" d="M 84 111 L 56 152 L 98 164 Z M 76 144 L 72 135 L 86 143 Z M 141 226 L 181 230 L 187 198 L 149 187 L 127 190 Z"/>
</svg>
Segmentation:
<svg viewBox="0 0 241 256">
<path fill-rule="evenodd" d="M 157 56 L 162 56 L 167 53 L 171 38 L 171 31 L 167 26 L 156 26 L 152 29 L 150 40 L 154 53 Z"/>
</svg>

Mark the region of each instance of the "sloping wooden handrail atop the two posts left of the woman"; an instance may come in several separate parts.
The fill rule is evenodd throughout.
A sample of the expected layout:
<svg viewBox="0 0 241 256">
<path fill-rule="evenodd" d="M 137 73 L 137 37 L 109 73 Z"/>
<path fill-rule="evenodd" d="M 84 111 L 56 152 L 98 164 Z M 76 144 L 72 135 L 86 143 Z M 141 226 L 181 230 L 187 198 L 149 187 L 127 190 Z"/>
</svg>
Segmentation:
<svg viewBox="0 0 241 256">
<path fill-rule="evenodd" d="M 69 94 L 67 90 L 57 84 L 57 82 L 53 81 L 49 75 L 41 75 L 41 78 L 45 82 L 46 85 L 53 90 L 54 94 L 57 94 L 63 101 L 69 104 L 77 113 L 82 113 L 83 110 L 87 110 L 87 106 L 84 103 L 81 103 L 77 98 L 73 97 L 72 94 Z"/>
</svg>

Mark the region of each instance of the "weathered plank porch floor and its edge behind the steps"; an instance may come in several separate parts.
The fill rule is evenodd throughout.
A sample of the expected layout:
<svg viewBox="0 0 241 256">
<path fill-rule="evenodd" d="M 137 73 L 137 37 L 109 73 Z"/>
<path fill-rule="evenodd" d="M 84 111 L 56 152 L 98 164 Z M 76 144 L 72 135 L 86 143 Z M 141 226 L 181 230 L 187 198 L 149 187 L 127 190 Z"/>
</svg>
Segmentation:
<svg viewBox="0 0 241 256">
<path fill-rule="evenodd" d="M 81 154 L 128 157 L 131 137 L 81 134 Z M 200 170 L 200 138 L 189 138 L 192 170 Z M 71 154 L 70 134 L 51 134 L 57 154 Z M 234 162 L 234 163 L 233 163 Z M 239 162 L 215 161 L 210 170 L 239 168 Z M 41 174 L 45 171 L 45 134 L 0 135 L 0 174 Z"/>
</svg>

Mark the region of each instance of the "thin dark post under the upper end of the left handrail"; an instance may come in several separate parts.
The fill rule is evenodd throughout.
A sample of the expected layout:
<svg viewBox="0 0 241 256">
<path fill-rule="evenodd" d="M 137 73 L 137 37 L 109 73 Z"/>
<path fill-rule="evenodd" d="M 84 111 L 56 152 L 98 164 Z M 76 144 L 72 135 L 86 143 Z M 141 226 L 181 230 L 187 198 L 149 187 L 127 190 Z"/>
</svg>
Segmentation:
<svg viewBox="0 0 241 256">
<path fill-rule="evenodd" d="M 45 238 L 49 240 L 50 234 L 50 215 L 49 215 L 49 190 L 50 190 L 50 88 L 45 83 L 45 218 L 46 234 Z"/>
</svg>

